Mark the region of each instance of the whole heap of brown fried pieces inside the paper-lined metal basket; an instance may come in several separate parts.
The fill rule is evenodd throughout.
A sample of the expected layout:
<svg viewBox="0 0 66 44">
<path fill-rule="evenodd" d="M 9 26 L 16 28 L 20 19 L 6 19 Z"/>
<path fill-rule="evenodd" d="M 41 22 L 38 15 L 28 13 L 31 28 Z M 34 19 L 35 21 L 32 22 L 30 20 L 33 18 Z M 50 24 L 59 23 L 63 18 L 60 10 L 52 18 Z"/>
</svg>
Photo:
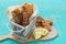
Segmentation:
<svg viewBox="0 0 66 44">
<path fill-rule="evenodd" d="M 13 13 L 13 19 L 14 22 L 26 26 L 30 23 L 30 16 L 33 13 L 33 4 L 25 3 L 19 8 L 15 8 L 12 13 Z"/>
</svg>

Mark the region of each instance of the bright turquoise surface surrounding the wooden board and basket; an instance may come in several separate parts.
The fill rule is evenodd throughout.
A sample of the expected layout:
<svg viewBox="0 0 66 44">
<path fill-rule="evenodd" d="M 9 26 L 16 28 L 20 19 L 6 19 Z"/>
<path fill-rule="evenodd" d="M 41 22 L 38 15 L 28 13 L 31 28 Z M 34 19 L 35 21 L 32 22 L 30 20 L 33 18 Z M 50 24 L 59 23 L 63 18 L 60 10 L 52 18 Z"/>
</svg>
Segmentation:
<svg viewBox="0 0 66 44">
<path fill-rule="evenodd" d="M 31 2 L 37 6 L 38 14 L 54 21 L 58 36 L 51 41 L 30 42 L 28 44 L 66 44 L 66 0 L 0 0 L 0 35 L 9 33 L 7 29 L 7 9 L 10 6 Z M 6 40 L 0 44 L 21 44 L 12 40 Z"/>
</svg>

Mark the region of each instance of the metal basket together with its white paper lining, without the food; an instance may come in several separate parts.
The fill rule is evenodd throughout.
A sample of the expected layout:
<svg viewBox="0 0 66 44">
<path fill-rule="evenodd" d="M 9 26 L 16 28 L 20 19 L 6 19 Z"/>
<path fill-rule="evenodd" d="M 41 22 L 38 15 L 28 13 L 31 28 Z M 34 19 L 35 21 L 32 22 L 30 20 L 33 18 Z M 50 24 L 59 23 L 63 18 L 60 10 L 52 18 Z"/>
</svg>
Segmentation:
<svg viewBox="0 0 66 44">
<path fill-rule="evenodd" d="M 16 6 L 16 7 L 20 8 L 20 6 Z M 36 6 L 33 7 L 34 12 L 33 12 L 32 16 L 30 18 L 30 24 L 26 25 L 26 26 L 22 26 L 22 25 L 19 25 L 16 23 L 14 23 L 12 12 L 11 12 L 11 11 L 13 11 L 14 8 L 15 8 L 15 6 L 10 7 L 8 9 L 8 11 L 9 11 L 8 16 L 9 16 L 10 23 L 12 25 L 11 32 L 13 32 L 13 34 L 15 36 L 18 36 L 18 37 L 20 37 L 22 40 L 26 40 L 32 34 L 33 30 L 35 29 L 34 25 L 35 25 L 35 21 L 37 19 L 37 15 L 36 15 L 37 8 L 36 8 Z"/>
</svg>

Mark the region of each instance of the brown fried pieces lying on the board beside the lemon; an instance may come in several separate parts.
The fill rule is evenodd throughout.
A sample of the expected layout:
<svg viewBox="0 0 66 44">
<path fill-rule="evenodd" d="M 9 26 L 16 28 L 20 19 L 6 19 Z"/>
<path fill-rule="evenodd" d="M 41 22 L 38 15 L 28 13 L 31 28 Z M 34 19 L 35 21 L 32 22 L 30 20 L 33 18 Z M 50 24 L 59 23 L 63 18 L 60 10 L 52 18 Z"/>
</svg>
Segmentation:
<svg viewBox="0 0 66 44">
<path fill-rule="evenodd" d="M 44 20 L 43 18 L 38 16 L 35 23 L 35 26 L 42 26 L 51 31 L 51 28 L 53 25 L 53 21 L 51 20 Z"/>
</svg>

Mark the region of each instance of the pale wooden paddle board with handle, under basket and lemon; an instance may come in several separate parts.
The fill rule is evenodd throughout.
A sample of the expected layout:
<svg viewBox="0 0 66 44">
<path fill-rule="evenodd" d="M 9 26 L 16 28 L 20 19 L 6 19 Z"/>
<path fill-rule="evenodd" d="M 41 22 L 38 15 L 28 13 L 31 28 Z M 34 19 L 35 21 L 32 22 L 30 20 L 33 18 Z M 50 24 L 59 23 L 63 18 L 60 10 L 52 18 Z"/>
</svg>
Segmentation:
<svg viewBox="0 0 66 44">
<path fill-rule="evenodd" d="M 18 41 L 18 42 L 32 42 L 32 41 L 45 41 L 45 40 L 52 40 L 54 38 L 55 36 L 57 36 L 57 31 L 52 28 L 52 31 L 44 37 L 40 38 L 40 40 L 34 40 L 33 36 L 31 35 L 28 40 L 21 40 L 19 37 L 16 37 L 15 35 L 12 35 L 12 33 L 10 33 L 9 35 L 2 35 L 0 36 L 0 41 L 3 41 L 6 38 L 12 38 L 14 41 Z"/>
</svg>

